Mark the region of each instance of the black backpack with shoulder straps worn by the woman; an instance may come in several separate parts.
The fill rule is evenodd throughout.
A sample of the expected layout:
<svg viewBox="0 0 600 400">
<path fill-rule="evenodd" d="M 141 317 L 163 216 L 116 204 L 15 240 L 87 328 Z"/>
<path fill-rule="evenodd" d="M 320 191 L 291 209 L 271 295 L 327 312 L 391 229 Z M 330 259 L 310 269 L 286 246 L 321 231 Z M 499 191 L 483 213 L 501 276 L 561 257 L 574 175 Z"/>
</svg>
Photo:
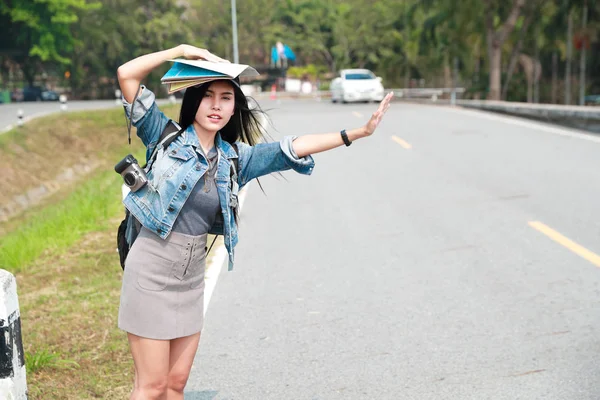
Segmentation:
<svg viewBox="0 0 600 400">
<path fill-rule="evenodd" d="M 177 125 L 172 120 L 169 120 L 169 122 L 167 123 L 167 126 L 160 134 L 160 138 L 158 139 L 158 143 L 157 143 L 156 147 L 152 151 L 152 155 L 148 159 L 148 162 L 146 163 L 146 165 L 143 166 L 143 168 L 146 168 L 146 166 L 148 166 L 148 165 L 150 165 L 150 168 L 152 168 L 152 164 L 154 163 L 156 156 L 158 154 L 158 149 L 160 147 L 162 147 L 163 150 L 166 150 L 167 147 L 169 147 L 169 145 L 171 143 L 173 143 L 182 133 L 183 133 L 183 130 L 179 127 L 179 125 Z M 232 144 L 232 146 L 233 146 L 233 149 L 235 150 L 235 152 L 238 153 L 237 146 L 235 144 Z M 238 159 L 234 158 L 232 161 L 233 161 L 235 170 L 233 168 L 231 169 L 231 173 L 229 176 L 230 179 L 234 179 L 234 174 L 239 174 Z M 236 213 L 236 212 L 237 212 L 237 210 L 234 210 L 234 213 Z M 134 230 L 133 237 L 131 239 L 131 243 L 129 243 L 127 241 L 127 235 L 126 235 L 129 224 L 133 224 L 131 229 Z M 133 246 L 133 242 L 137 238 L 137 235 L 140 232 L 140 229 L 141 229 L 141 224 L 135 219 L 134 216 L 131 215 L 129 210 L 126 208 L 125 209 L 125 218 L 123 219 L 123 221 L 121 221 L 121 223 L 119 224 L 119 228 L 117 229 L 117 250 L 119 252 L 119 261 L 121 263 L 121 268 L 123 268 L 123 270 L 125 270 L 125 260 L 127 259 L 127 254 L 129 253 L 131 246 Z M 210 250 L 212 249 L 216 240 L 217 240 L 217 236 L 215 236 L 215 238 L 213 239 L 213 241 L 210 245 L 210 248 L 206 249 L 207 253 L 210 252 Z"/>
</svg>

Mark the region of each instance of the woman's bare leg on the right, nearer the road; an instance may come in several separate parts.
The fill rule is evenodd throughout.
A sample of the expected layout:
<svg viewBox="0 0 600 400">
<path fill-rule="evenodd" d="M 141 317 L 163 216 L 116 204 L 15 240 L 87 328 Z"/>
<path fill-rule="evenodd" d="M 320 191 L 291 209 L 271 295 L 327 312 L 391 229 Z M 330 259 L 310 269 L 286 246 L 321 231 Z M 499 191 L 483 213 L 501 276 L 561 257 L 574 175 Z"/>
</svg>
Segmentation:
<svg viewBox="0 0 600 400">
<path fill-rule="evenodd" d="M 200 332 L 171 340 L 167 400 L 183 400 L 183 389 L 190 376 L 199 342 Z"/>
</svg>

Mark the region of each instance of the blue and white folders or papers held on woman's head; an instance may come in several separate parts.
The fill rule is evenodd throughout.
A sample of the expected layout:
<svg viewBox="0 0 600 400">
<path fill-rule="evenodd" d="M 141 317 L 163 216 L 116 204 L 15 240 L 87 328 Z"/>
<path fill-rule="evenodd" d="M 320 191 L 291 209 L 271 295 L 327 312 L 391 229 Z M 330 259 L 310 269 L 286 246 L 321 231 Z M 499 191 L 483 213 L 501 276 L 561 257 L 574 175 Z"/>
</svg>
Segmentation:
<svg viewBox="0 0 600 400">
<path fill-rule="evenodd" d="M 169 85 L 169 94 L 216 79 L 235 79 L 258 76 L 258 72 L 244 64 L 215 63 L 211 61 L 174 59 L 171 69 L 161 78 Z"/>
</svg>

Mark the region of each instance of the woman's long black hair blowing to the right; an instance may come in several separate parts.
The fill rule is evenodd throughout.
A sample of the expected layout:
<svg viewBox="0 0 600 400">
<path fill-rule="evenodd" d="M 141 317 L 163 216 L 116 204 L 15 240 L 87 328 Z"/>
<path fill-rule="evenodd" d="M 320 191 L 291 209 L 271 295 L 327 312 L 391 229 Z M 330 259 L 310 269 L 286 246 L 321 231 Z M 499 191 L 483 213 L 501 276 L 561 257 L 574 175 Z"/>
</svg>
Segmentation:
<svg viewBox="0 0 600 400">
<path fill-rule="evenodd" d="M 221 138 L 230 144 L 241 141 L 251 146 L 266 142 L 267 134 L 264 125 L 268 121 L 267 114 L 258 106 L 256 101 L 253 101 L 255 107 L 250 109 L 248 98 L 246 98 L 246 95 L 240 89 L 239 81 L 237 80 L 235 82 L 232 82 L 230 79 L 210 81 L 200 86 L 186 89 L 179 113 L 179 125 L 181 129 L 185 130 L 194 123 L 200 102 L 204 98 L 209 86 L 213 82 L 219 81 L 229 82 L 233 87 L 235 98 L 234 113 L 227 125 L 221 129 Z M 260 116 L 263 117 L 262 121 L 265 122 L 261 122 Z"/>
</svg>

